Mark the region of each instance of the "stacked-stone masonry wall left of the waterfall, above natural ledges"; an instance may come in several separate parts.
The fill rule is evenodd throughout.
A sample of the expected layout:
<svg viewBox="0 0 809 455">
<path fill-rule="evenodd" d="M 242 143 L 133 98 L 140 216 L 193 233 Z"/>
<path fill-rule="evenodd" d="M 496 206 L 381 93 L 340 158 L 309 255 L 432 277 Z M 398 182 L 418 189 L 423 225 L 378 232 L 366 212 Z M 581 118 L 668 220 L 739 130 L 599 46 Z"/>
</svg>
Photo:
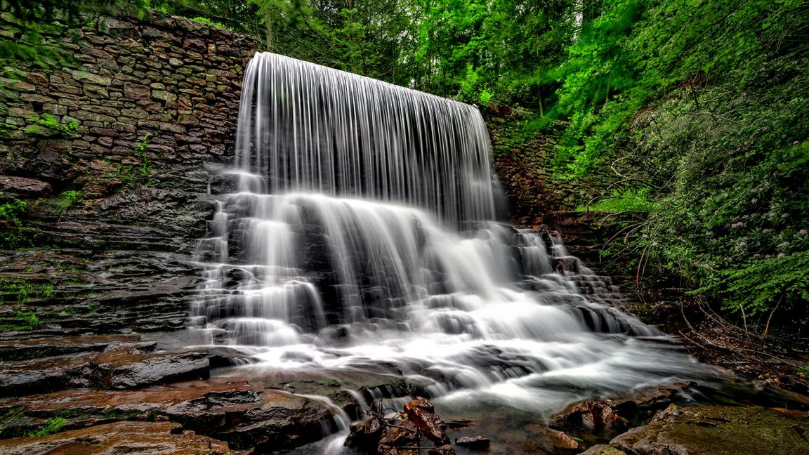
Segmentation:
<svg viewBox="0 0 809 455">
<path fill-rule="evenodd" d="M 0 29 L 19 28 L 2 15 Z M 232 162 L 241 73 L 255 42 L 158 13 L 87 18 L 81 28 L 46 28 L 44 39 L 66 63 L 18 63 L 0 79 L 0 198 L 28 199 L 36 214 L 42 198 L 74 190 L 79 204 L 62 218 L 204 235 L 205 216 L 178 204 L 205 193 L 206 169 Z"/>
</svg>

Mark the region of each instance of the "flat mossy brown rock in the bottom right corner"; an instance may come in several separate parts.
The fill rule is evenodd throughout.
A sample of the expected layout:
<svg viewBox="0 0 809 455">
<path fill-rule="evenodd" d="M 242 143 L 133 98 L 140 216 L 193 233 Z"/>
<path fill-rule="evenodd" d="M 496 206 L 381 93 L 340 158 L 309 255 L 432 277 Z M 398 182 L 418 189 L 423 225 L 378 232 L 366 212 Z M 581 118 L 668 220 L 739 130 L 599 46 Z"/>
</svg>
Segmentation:
<svg viewBox="0 0 809 455">
<path fill-rule="evenodd" d="M 633 455 L 809 453 L 809 421 L 757 406 L 668 406 L 610 445 Z"/>
</svg>

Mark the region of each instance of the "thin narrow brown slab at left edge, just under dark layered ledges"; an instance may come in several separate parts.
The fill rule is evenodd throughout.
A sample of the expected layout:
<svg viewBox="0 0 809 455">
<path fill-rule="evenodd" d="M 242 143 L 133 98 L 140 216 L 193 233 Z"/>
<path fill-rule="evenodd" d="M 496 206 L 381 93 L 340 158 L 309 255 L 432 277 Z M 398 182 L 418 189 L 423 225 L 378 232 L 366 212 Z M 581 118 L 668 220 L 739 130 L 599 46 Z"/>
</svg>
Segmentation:
<svg viewBox="0 0 809 455">
<path fill-rule="evenodd" d="M 40 359 L 56 355 L 129 348 L 150 351 L 156 344 L 155 342 L 142 344 L 140 339 L 140 335 L 90 335 L 85 337 L 11 340 L 0 344 L 0 359 L 9 362 L 11 360 Z"/>
</svg>

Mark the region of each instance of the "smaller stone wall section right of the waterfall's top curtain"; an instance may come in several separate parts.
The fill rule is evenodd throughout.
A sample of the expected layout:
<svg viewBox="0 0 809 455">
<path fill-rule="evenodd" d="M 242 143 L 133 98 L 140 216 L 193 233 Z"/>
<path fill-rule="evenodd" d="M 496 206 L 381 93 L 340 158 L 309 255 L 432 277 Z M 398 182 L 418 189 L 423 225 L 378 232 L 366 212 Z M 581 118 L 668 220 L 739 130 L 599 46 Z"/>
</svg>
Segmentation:
<svg viewBox="0 0 809 455">
<path fill-rule="evenodd" d="M 575 210 L 616 181 L 608 167 L 596 168 L 581 179 L 563 180 L 553 169 L 553 136 L 526 133 L 529 113 L 490 105 L 482 114 L 492 138 L 494 168 L 515 223 L 533 223 L 549 212 Z"/>
</svg>

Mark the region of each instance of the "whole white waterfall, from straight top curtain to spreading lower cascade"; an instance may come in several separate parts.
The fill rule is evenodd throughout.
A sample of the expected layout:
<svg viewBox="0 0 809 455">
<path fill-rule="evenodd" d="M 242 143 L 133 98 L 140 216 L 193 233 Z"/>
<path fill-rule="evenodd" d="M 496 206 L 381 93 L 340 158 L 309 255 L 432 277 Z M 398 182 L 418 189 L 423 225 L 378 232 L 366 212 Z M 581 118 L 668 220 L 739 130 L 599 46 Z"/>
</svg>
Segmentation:
<svg viewBox="0 0 809 455">
<path fill-rule="evenodd" d="M 560 239 L 496 222 L 489 148 L 472 106 L 257 53 L 191 325 L 252 368 L 394 371 L 452 409 L 696 375 Z"/>
</svg>

